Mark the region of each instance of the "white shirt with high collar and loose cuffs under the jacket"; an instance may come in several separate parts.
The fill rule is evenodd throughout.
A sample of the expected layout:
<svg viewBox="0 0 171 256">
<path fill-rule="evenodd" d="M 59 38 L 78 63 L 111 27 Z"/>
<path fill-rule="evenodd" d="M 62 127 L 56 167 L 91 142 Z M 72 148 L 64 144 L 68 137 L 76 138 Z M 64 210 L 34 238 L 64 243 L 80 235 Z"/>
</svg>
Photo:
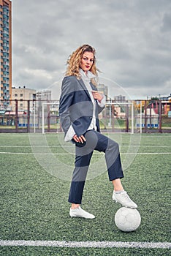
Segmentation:
<svg viewBox="0 0 171 256">
<path fill-rule="evenodd" d="M 91 101 L 94 105 L 94 111 L 93 111 L 93 118 L 91 119 L 91 124 L 90 126 L 88 127 L 88 130 L 90 129 L 95 129 L 96 130 L 96 116 L 95 116 L 95 113 L 96 113 L 96 101 L 93 97 L 93 94 L 92 94 L 92 88 L 91 88 L 91 85 L 90 85 L 90 81 L 91 81 L 91 78 L 95 78 L 95 75 L 93 73 L 91 73 L 90 71 L 87 72 L 87 74 L 85 72 L 83 72 L 83 69 L 80 69 L 80 75 L 81 75 L 81 78 L 88 90 L 88 93 L 90 94 L 90 97 L 91 97 Z M 101 102 L 98 102 L 99 106 L 100 107 L 104 107 L 105 105 L 105 97 L 103 97 L 102 101 Z M 64 138 L 64 141 L 69 141 L 69 140 L 72 140 L 72 138 L 74 137 L 75 135 L 75 130 L 73 129 L 72 125 L 69 127 L 68 131 L 66 132 L 66 136 Z"/>
</svg>

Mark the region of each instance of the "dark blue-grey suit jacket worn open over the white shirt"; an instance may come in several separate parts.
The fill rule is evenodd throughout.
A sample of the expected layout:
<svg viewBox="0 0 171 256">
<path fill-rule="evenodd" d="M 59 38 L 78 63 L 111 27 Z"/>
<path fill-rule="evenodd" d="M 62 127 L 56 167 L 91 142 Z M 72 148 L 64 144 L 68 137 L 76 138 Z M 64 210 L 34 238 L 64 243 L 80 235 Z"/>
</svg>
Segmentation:
<svg viewBox="0 0 171 256">
<path fill-rule="evenodd" d="M 92 83 L 90 84 L 92 90 L 97 90 Z M 99 132 L 98 115 L 103 109 L 96 101 L 96 127 Z M 75 75 L 65 77 L 59 102 L 59 116 L 65 135 L 70 125 L 77 136 L 83 135 L 91 124 L 93 110 L 94 106 L 83 80 L 78 80 Z"/>
</svg>

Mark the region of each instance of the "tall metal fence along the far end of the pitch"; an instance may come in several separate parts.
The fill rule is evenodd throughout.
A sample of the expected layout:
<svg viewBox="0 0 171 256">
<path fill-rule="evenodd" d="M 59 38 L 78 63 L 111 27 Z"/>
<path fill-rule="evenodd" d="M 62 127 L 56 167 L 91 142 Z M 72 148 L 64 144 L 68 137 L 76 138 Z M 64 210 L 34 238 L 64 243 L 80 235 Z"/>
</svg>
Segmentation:
<svg viewBox="0 0 171 256">
<path fill-rule="evenodd" d="M 62 132 L 58 105 L 58 100 L 11 100 L 0 109 L 0 132 Z M 171 132 L 170 111 L 171 103 L 161 100 L 110 99 L 99 115 L 100 127 L 102 132 Z"/>
</svg>

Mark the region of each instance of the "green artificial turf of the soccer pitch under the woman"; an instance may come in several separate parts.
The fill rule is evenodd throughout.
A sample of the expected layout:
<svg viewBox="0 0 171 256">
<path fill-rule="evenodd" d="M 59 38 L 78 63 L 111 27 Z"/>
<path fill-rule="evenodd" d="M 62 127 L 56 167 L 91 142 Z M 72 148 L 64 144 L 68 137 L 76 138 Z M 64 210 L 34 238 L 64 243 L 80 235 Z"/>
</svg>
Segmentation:
<svg viewBox="0 0 171 256">
<path fill-rule="evenodd" d="M 170 242 L 171 155 L 150 154 L 169 153 L 170 135 L 110 135 L 110 138 L 118 140 L 123 160 L 126 153 L 134 150 L 149 153 L 135 154 L 122 180 L 123 187 L 138 204 L 142 218 L 140 227 L 132 233 L 123 233 L 115 226 L 115 212 L 121 206 L 111 199 L 113 187 L 108 181 L 107 170 L 89 178 L 83 194 L 83 208 L 94 214 L 96 219 L 69 217 L 70 181 L 61 177 L 66 167 L 72 170 L 75 149 L 63 142 L 63 136 L 35 135 L 34 141 L 39 145 L 33 145 L 33 140 L 26 134 L 0 135 L 1 240 Z M 42 146 L 43 137 L 47 147 Z M 42 167 L 44 165 L 40 165 L 42 158 L 36 159 L 32 150 L 60 153 L 53 160 L 58 159 L 64 170 L 61 167 L 58 175 L 51 175 Z M 48 164 L 52 156 L 42 157 Z M 94 154 L 91 165 L 96 167 L 96 162 L 102 161 L 102 157 L 102 154 Z M 169 249 L 137 248 L 0 248 L 0 255 L 167 255 L 169 252 Z"/>
</svg>

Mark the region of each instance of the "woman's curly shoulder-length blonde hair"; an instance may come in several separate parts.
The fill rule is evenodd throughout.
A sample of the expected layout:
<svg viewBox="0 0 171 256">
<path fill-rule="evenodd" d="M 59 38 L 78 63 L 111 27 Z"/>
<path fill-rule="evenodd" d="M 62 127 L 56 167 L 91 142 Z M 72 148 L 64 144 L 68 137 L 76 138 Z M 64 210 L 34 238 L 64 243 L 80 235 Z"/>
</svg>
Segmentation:
<svg viewBox="0 0 171 256">
<path fill-rule="evenodd" d="M 66 62 L 66 64 L 68 65 L 65 73 L 66 76 L 76 75 L 77 79 L 80 79 L 80 61 L 83 57 L 83 53 L 85 53 L 86 51 L 94 53 L 94 63 L 92 64 L 90 71 L 97 77 L 95 57 L 96 50 L 91 45 L 82 45 L 77 48 L 77 50 L 75 50 L 72 55 L 69 56 L 69 59 Z"/>
</svg>

